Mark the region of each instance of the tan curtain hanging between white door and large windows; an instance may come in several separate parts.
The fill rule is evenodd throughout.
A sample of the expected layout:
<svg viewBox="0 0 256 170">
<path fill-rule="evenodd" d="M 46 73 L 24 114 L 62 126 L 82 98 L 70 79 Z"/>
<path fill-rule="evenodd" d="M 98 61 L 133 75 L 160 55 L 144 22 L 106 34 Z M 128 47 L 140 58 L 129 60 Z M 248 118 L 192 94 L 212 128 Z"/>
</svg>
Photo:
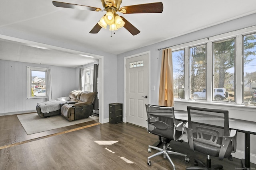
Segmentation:
<svg viewBox="0 0 256 170">
<path fill-rule="evenodd" d="M 159 86 L 159 105 L 174 106 L 172 49 L 164 49 Z"/>
</svg>

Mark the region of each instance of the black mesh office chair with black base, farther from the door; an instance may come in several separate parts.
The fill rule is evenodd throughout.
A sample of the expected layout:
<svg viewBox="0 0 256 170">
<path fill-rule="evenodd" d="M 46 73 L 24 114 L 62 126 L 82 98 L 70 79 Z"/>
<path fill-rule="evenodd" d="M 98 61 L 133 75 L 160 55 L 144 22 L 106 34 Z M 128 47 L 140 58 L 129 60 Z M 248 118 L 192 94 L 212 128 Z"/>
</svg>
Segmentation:
<svg viewBox="0 0 256 170">
<path fill-rule="evenodd" d="M 210 156 L 223 160 L 236 151 L 236 130 L 229 130 L 228 110 L 190 106 L 187 109 L 185 127 L 190 149 L 207 154 L 207 159 L 206 164 L 195 159 L 195 167 L 187 167 L 186 170 L 222 169 L 222 165 L 211 165 Z"/>
</svg>

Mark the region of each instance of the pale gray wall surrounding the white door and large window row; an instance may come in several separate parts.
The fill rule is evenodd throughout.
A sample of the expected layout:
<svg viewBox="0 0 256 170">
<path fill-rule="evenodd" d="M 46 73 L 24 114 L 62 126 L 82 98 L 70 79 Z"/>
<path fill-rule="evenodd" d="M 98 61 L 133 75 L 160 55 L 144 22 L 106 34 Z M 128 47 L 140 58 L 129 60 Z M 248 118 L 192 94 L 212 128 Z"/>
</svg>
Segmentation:
<svg viewBox="0 0 256 170">
<path fill-rule="evenodd" d="M 150 84 L 149 86 L 155 86 L 155 90 L 150 90 L 149 103 L 158 104 L 158 91 L 159 91 L 159 80 L 160 80 L 160 66 L 162 61 L 162 50 L 158 51 L 160 48 L 170 47 L 182 43 L 188 43 L 190 41 L 195 41 L 198 39 L 203 39 L 211 37 L 214 35 L 219 35 L 222 33 L 227 33 L 230 31 L 235 31 L 237 29 L 242 29 L 250 26 L 256 25 L 256 14 L 239 18 L 237 20 L 232 20 L 220 25 L 209 27 L 194 33 L 189 33 L 180 37 L 175 37 L 160 43 L 149 45 L 140 49 L 129 51 L 118 55 L 118 90 L 117 98 L 118 102 L 124 103 L 124 57 L 136 55 L 146 51 L 150 51 Z M 188 25 L 189 26 L 189 25 Z M 255 30 L 256 31 L 256 30 Z M 175 109 L 186 110 L 186 106 L 198 106 L 198 107 L 209 107 L 209 108 L 222 108 L 228 109 L 230 111 L 230 117 L 245 119 L 250 121 L 256 121 L 256 108 L 255 107 L 235 107 L 235 106 L 225 106 L 222 104 L 200 104 L 200 103 L 191 103 L 185 101 L 175 101 Z M 256 163 L 256 148 L 253 148 L 254 141 L 256 141 L 256 135 L 251 135 L 251 162 Z M 237 152 L 233 154 L 234 157 L 244 158 L 244 134 L 238 133 L 238 146 Z"/>
</svg>

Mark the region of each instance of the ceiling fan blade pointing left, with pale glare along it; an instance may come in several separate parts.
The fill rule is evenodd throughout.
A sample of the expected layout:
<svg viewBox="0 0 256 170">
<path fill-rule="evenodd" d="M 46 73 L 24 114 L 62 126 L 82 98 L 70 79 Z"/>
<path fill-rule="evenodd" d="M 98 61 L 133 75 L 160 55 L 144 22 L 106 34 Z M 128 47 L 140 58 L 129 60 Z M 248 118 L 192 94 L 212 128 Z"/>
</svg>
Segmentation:
<svg viewBox="0 0 256 170">
<path fill-rule="evenodd" d="M 77 9 L 77 10 L 89 10 L 89 11 L 101 11 L 100 8 L 78 5 L 78 4 L 69 4 L 66 2 L 52 1 L 52 4 L 56 7 L 62 7 L 62 8 L 73 8 L 73 9 Z"/>
</svg>

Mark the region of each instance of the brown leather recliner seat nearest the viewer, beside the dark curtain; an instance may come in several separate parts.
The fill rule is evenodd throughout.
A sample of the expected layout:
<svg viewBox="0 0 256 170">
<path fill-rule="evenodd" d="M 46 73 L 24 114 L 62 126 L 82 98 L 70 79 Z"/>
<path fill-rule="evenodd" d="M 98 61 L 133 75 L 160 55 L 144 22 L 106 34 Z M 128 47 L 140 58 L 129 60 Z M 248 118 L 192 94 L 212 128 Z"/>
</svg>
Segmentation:
<svg viewBox="0 0 256 170">
<path fill-rule="evenodd" d="M 60 104 L 60 112 L 69 121 L 84 119 L 92 115 L 97 92 L 82 92 L 77 96 L 78 101 Z"/>
</svg>

